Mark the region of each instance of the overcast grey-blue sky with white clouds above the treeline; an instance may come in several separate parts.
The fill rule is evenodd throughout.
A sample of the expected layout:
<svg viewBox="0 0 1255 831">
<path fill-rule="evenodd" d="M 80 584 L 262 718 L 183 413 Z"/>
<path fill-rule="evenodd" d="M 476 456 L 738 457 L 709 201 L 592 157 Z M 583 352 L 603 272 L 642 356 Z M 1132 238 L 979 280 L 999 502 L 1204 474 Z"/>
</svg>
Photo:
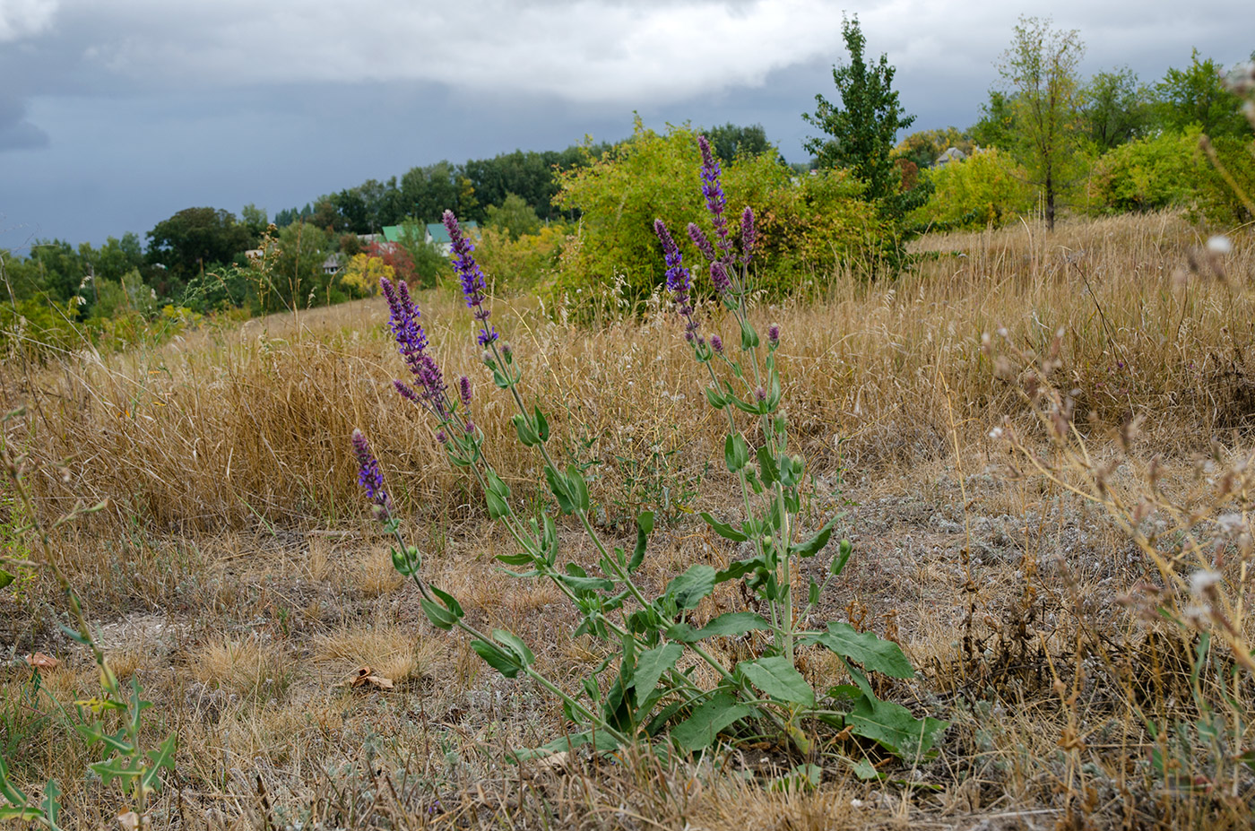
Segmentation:
<svg viewBox="0 0 1255 831">
<path fill-rule="evenodd" d="M 1255 49 L 1250 0 L 0 0 L 0 247 L 100 244 L 192 206 L 301 206 L 442 158 L 761 123 L 789 161 L 842 14 L 912 129 L 966 127 L 1020 14 L 1088 74 Z"/>
</svg>

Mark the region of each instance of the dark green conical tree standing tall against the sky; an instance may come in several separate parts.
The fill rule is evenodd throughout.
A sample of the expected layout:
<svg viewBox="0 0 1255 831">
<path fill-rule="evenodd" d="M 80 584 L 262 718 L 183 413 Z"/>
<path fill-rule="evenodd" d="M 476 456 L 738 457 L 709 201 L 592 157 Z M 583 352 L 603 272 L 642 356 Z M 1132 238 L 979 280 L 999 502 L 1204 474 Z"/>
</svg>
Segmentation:
<svg viewBox="0 0 1255 831">
<path fill-rule="evenodd" d="M 899 195 L 901 177 L 894 168 L 891 152 L 897 132 L 910 127 L 915 117 L 902 112 L 894 90 L 896 70 L 889 59 L 881 54 L 878 62 L 868 64 L 863 58 L 867 41 L 858 18 L 843 20 L 841 33 L 850 63 L 832 68 L 840 102 L 814 97 L 814 113 L 802 118 L 827 138 L 812 137 L 804 147 L 816 156 L 820 167 L 848 167 L 863 183 L 867 198 L 881 202 L 886 213 L 900 216 L 902 206 L 894 197 Z"/>
</svg>

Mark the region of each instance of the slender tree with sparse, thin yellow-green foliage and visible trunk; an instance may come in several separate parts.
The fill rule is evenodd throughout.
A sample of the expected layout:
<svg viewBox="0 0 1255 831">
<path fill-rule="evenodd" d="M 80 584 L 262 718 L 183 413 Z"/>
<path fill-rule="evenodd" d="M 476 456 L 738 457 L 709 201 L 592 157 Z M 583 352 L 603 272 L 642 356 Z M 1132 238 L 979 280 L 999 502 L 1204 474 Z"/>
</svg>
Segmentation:
<svg viewBox="0 0 1255 831">
<path fill-rule="evenodd" d="M 1042 190 L 1045 227 L 1054 230 L 1060 192 L 1079 181 L 1081 102 L 1077 65 L 1086 48 L 1076 29 L 1022 16 L 998 70 L 1013 94 L 1012 153 Z"/>
</svg>

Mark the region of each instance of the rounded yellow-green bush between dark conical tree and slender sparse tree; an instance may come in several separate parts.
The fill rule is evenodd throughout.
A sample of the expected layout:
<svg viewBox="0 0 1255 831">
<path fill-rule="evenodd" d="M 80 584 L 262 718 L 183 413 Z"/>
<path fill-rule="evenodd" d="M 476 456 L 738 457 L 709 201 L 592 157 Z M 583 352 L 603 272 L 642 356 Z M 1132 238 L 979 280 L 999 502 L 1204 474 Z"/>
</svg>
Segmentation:
<svg viewBox="0 0 1255 831">
<path fill-rule="evenodd" d="M 932 230 L 998 227 L 1033 210 L 1024 168 L 995 147 L 925 172 L 932 182 L 926 205 L 911 221 Z"/>
</svg>

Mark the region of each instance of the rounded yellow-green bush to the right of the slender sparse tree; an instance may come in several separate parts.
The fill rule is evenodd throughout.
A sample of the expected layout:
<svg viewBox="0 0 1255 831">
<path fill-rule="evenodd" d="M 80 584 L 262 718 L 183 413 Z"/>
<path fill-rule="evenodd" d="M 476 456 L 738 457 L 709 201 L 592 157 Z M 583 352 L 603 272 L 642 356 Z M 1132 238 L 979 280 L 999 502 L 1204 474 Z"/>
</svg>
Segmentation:
<svg viewBox="0 0 1255 831">
<path fill-rule="evenodd" d="M 1089 213 L 1127 213 L 1187 205 L 1206 176 L 1199 129 L 1121 144 L 1094 166 Z"/>
</svg>

